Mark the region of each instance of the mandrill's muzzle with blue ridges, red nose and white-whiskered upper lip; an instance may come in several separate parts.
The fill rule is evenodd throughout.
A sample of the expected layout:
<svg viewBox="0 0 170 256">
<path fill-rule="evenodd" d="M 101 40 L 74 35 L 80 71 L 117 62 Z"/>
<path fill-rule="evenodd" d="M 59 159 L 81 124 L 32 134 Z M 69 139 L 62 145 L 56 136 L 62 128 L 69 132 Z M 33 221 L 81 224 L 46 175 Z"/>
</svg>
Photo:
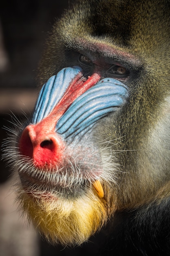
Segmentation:
<svg viewBox="0 0 170 256">
<path fill-rule="evenodd" d="M 101 168 L 93 130 L 99 119 L 123 105 L 128 91 L 118 80 L 99 79 L 99 74 L 86 79 L 77 67 L 65 68 L 43 86 L 31 124 L 20 138 L 20 153 L 32 159 L 34 166 L 31 173 L 19 171 L 23 185 L 25 174 L 36 182 L 38 172 L 42 172 L 41 182 L 45 179 L 47 190 L 53 188 L 60 197 L 69 198 L 81 196 L 102 176 L 113 180 Z M 53 180 L 47 182 L 51 173 Z"/>
</svg>

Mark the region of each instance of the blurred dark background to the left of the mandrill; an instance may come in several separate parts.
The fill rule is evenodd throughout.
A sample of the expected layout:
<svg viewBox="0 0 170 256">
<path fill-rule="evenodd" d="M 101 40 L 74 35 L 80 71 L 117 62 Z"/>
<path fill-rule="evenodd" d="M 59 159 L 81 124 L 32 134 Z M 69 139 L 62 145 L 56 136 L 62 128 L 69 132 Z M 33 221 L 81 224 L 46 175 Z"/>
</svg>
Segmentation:
<svg viewBox="0 0 170 256">
<path fill-rule="evenodd" d="M 0 142 L 7 137 L 13 118 L 29 115 L 37 97 L 36 69 L 48 32 L 69 0 L 1 1 L 0 7 Z M 12 115 L 13 115 L 12 114 Z M 13 203 L 11 173 L 0 162 L 0 256 L 85 256 L 96 255 L 100 237 L 75 249 L 53 247 L 25 226 Z M 99 242 L 97 242 L 97 240 Z"/>
</svg>

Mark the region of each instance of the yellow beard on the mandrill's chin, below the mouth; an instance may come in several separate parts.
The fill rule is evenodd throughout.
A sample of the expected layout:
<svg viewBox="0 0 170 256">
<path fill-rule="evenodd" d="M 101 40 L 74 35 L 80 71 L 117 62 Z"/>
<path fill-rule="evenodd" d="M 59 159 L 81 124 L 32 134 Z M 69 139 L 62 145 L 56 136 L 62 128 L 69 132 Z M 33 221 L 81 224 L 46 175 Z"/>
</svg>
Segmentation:
<svg viewBox="0 0 170 256">
<path fill-rule="evenodd" d="M 36 198 L 20 195 L 29 219 L 50 243 L 80 245 L 106 222 L 104 201 L 88 191 L 81 198 Z"/>
</svg>

